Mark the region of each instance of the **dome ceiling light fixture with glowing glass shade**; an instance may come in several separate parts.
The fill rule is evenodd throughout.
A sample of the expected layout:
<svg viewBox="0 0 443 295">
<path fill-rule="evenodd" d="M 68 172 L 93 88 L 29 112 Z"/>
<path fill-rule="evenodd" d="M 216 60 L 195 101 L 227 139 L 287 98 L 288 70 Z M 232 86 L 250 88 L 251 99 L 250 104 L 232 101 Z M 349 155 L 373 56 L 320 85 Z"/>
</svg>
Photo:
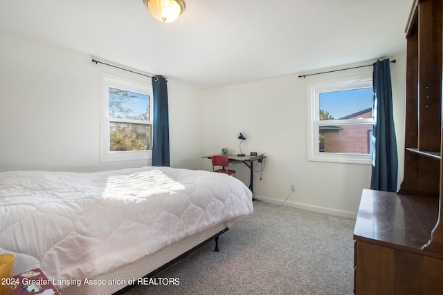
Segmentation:
<svg viewBox="0 0 443 295">
<path fill-rule="evenodd" d="M 175 21 L 185 10 L 185 2 L 182 0 L 143 0 L 143 3 L 154 19 L 163 23 Z"/>
</svg>

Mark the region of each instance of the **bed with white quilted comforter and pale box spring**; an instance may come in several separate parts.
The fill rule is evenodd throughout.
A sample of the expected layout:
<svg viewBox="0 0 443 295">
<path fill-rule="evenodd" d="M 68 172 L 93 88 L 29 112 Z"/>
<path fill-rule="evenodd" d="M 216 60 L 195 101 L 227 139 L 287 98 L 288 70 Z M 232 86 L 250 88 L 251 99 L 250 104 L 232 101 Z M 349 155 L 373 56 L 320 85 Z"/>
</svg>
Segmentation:
<svg viewBox="0 0 443 295">
<path fill-rule="evenodd" d="M 147 166 L 0 173 L 0 254 L 39 267 L 64 295 L 112 294 L 253 213 L 223 173 Z"/>
</svg>

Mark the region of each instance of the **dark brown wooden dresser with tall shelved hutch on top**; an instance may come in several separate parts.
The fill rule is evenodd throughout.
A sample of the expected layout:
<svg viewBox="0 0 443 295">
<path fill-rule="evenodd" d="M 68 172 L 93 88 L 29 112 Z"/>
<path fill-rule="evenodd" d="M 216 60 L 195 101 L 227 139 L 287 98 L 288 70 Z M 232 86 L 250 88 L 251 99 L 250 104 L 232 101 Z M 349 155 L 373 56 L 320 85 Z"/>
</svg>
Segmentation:
<svg viewBox="0 0 443 295">
<path fill-rule="evenodd" d="M 406 28 L 404 180 L 363 190 L 354 229 L 361 294 L 443 294 L 443 0 L 417 0 Z"/>
</svg>

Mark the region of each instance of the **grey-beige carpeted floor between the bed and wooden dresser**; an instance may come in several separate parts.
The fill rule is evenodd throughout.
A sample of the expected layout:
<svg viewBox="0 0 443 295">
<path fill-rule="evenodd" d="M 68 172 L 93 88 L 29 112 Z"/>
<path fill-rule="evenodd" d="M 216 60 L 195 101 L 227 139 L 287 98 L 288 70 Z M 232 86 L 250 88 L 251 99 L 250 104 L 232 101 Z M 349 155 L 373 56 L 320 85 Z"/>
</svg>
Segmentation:
<svg viewBox="0 0 443 295">
<path fill-rule="evenodd" d="M 254 213 L 157 275 L 141 294 L 353 294 L 354 220 L 254 202 Z"/>
</svg>

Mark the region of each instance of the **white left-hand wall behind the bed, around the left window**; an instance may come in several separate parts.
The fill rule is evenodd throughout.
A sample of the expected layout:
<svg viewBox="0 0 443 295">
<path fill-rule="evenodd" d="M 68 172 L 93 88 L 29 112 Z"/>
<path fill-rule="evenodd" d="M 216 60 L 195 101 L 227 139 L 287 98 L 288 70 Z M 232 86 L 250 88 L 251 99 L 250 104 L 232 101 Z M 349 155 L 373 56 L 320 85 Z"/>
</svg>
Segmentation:
<svg viewBox="0 0 443 295">
<path fill-rule="evenodd" d="M 0 171 L 99 171 L 150 161 L 99 162 L 100 70 L 91 55 L 0 32 Z M 155 73 L 157 74 L 157 73 Z M 161 75 L 161 73 L 158 73 Z M 199 168 L 202 94 L 168 81 L 171 166 Z"/>
</svg>

